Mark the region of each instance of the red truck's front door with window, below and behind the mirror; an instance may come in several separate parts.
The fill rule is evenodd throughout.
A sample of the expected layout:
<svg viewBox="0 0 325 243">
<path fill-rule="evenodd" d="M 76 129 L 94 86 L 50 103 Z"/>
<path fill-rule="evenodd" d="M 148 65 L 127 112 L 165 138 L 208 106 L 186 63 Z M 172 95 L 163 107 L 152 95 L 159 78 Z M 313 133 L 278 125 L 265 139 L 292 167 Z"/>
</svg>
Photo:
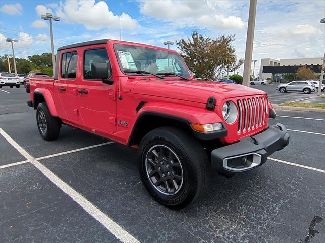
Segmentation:
<svg viewBox="0 0 325 243">
<path fill-rule="evenodd" d="M 83 51 L 83 76 L 78 85 L 80 119 L 92 130 L 116 131 L 116 80 L 112 85 L 91 75 L 91 63 L 106 63 L 109 79 L 114 79 L 106 46 Z"/>
</svg>

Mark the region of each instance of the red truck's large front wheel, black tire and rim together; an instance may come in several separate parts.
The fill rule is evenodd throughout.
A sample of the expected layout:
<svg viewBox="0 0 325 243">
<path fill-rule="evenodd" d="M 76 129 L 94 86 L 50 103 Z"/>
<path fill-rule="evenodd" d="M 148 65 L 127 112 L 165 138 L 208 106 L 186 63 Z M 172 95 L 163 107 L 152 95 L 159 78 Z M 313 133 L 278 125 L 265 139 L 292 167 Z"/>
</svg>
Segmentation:
<svg viewBox="0 0 325 243">
<path fill-rule="evenodd" d="M 182 209 L 205 192 L 210 164 L 202 145 L 174 127 L 147 133 L 140 146 L 139 172 L 147 191 L 159 203 Z"/>
</svg>

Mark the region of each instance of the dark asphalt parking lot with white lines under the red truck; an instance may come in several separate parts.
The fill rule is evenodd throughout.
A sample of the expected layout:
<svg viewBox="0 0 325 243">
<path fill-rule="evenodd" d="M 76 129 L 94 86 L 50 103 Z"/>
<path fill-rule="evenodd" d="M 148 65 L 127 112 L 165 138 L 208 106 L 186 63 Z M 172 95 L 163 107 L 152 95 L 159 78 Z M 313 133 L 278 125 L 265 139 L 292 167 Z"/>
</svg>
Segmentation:
<svg viewBox="0 0 325 243">
<path fill-rule="evenodd" d="M 269 124 L 289 129 L 288 147 L 213 173 L 202 200 L 172 211 L 146 192 L 136 151 L 68 126 L 43 141 L 24 89 L 2 90 L 0 242 L 325 242 L 324 113 L 277 111 Z M 291 95 L 271 91 L 273 103 Z"/>
</svg>

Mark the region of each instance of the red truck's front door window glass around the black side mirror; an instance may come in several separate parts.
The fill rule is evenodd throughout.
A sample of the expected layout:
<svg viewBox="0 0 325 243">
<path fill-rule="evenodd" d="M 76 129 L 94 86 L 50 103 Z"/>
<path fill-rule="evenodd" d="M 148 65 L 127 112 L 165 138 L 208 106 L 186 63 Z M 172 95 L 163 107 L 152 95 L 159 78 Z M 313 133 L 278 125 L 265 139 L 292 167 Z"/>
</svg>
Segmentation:
<svg viewBox="0 0 325 243">
<path fill-rule="evenodd" d="M 112 74 L 110 60 L 108 59 L 107 51 L 105 48 L 86 50 L 84 55 L 83 77 L 84 79 L 95 79 L 91 75 L 91 63 L 106 63 L 108 68 L 109 77 Z M 109 78 L 107 77 L 107 78 Z"/>
</svg>

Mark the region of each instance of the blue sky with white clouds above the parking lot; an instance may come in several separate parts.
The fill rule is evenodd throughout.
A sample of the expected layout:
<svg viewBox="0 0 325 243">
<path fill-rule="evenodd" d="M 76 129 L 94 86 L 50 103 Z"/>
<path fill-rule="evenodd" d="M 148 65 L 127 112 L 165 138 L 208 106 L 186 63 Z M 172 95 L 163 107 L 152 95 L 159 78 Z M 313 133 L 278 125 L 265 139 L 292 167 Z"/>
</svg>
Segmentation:
<svg viewBox="0 0 325 243">
<path fill-rule="evenodd" d="M 244 58 L 248 0 L 1 0 L 0 55 L 11 53 L 5 39 L 19 39 L 15 54 L 27 58 L 50 52 L 49 23 L 40 15 L 53 13 L 54 48 L 96 39 L 164 46 L 187 38 L 193 30 L 206 37 L 235 35 L 238 58 Z M 325 50 L 323 0 L 257 1 L 253 59 L 322 57 Z M 176 45 L 171 49 L 177 50 Z M 243 66 L 239 72 L 242 74 Z"/>
</svg>

